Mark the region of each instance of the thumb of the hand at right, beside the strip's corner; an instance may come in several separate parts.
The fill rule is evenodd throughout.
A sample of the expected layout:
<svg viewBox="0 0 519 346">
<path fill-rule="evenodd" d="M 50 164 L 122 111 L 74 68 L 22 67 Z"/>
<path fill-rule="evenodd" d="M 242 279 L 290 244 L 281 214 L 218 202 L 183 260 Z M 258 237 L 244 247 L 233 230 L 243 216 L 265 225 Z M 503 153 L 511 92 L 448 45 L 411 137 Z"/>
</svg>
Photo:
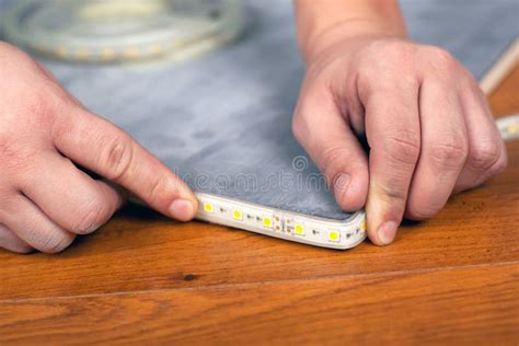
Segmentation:
<svg viewBox="0 0 519 346">
<path fill-rule="evenodd" d="M 326 177 L 341 208 L 361 209 L 368 195 L 368 160 L 326 89 L 301 94 L 292 130 Z"/>
</svg>

